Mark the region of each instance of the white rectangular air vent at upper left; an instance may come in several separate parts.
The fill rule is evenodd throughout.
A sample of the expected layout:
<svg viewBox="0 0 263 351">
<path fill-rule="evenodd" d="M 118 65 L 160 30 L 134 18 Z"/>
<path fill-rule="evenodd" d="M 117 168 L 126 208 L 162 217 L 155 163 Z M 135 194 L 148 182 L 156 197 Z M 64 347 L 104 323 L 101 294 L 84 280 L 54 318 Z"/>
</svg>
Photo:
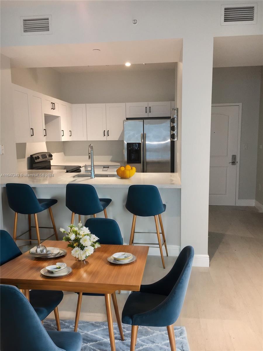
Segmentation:
<svg viewBox="0 0 263 351">
<path fill-rule="evenodd" d="M 20 17 L 21 35 L 52 34 L 51 19 L 51 15 Z"/>
</svg>

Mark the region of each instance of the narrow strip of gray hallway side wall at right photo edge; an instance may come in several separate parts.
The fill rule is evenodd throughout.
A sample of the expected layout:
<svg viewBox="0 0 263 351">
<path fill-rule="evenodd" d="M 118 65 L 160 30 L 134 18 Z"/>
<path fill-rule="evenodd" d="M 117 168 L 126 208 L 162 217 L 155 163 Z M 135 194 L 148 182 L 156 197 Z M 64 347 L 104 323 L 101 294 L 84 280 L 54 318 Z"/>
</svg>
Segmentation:
<svg viewBox="0 0 263 351">
<path fill-rule="evenodd" d="M 261 190 L 259 190 L 259 186 Z M 263 66 L 261 66 L 261 84 L 260 84 L 260 102 L 259 102 L 259 120 L 258 120 L 256 200 L 261 205 L 263 205 Z"/>
</svg>

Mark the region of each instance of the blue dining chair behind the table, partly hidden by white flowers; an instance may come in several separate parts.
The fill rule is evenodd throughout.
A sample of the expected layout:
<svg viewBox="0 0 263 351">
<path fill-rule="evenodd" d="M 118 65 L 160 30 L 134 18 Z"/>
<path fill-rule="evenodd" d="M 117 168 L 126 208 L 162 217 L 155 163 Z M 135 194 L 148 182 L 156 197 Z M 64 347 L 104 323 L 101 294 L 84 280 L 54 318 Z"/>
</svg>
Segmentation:
<svg viewBox="0 0 263 351">
<path fill-rule="evenodd" d="M 117 222 L 114 219 L 89 218 L 85 223 L 85 227 L 88 227 L 90 232 L 99 238 L 100 244 L 108 244 L 108 245 L 110 245 L 110 244 L 122 245 L 123 244 L 123 239 L 121 236 L 121 231 L 120 231 L 119 225 L 117 224 Z M 94 294 L 94 293 L 87 293 L 87 292 L 83 292 L 83 293 L 78 292 L 78 294 L 79 294 L 79 297 L 77 300 L 77 310 L 76 310 L 74 331 L 77 331 L 77 325 L 79 323 L 82 295 L 104 296 L 104 294 Z M 117 305 L 117 299 L 116 299 L 115 292 L 112 294 L 112 300 L 113 300 L 114 311 L 115 311 L 115 315 L 116 315 L 116 319 L 117 319 L 117 323 L 118 323 L 118 327 L 119 327 L 119 331 L 120 331 L 120 336 L 121 336 L 121 339 L 124 340 L 121 319 L 120 319 L 120 314 L 119 314 L 119 309 L 118 309 L 118 305 Z"/>
</svg>

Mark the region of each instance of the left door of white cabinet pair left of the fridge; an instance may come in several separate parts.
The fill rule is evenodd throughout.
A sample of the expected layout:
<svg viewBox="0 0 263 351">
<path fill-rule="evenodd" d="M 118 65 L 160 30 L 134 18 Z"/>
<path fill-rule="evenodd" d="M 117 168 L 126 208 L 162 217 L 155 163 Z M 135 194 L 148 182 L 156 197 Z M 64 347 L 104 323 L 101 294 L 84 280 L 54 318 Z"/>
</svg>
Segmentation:
<svg viewBox="0 0 263 351">
<path fill-rule="evenodd" d="M 106 104 L 86 104 L 88 140 L 107 140 Z"/>
</svg>

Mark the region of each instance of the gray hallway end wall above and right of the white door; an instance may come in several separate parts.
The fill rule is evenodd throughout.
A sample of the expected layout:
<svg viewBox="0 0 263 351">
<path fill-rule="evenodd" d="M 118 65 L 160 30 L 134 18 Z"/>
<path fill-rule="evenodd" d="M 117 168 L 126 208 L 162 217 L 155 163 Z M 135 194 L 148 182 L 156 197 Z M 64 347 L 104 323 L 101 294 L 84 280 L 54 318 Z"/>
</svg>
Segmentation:
<svg viewBox="0 0 263 351">
<path fill-rule="evenodd" d="M 260 69 L 213 69 L 212 104 L 242 102 L 239 199 L 255 199 Z"/>
</svg>

